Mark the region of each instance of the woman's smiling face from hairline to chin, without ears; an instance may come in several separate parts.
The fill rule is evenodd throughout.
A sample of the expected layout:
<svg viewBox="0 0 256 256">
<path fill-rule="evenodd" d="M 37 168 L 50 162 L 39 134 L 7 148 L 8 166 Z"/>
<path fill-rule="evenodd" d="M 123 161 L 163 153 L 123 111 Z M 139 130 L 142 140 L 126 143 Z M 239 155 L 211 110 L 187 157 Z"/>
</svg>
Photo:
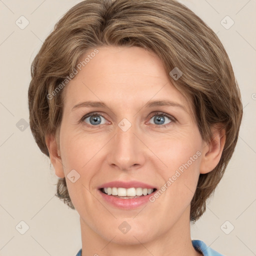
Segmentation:
<svg viewBox="0 0 256 256">
<path fill-rule="evenodd" d="M 189 223 L 203 141 L 191 102 L 154 53 L 97 49 L 63 91 L 61 171 L 88 230 L 123 244 L 134 236 L 143 243 L 181 219 Z"/>
</svg>

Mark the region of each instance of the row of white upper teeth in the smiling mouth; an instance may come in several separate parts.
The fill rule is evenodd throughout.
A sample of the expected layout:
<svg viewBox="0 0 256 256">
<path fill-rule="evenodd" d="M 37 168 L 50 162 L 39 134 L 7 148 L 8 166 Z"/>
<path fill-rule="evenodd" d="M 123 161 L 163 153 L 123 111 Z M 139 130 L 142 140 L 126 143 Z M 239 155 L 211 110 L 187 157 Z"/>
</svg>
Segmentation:
<svg viewBox="0 0 256 256">
<path fill-rule="evenodd" d="M 153 192 L 152 188 L 142 188 L 142 187 L 104 187 L 103 191 L 108 195 L 118 195 L 118 196 L 140 196 L 147 195 Z"/>
</svg>

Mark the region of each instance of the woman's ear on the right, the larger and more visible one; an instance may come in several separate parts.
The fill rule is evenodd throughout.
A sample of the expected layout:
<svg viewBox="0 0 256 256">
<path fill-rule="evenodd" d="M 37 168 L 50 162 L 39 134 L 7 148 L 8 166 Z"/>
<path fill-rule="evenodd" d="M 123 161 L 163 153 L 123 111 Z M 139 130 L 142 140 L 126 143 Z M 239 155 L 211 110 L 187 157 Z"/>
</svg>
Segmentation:
<svg viewBox="0 0 256 256">
<path fill-rule="evenodd" d="M 215 123 L 211 127 L 212 138 L 204 144 L 200 163 L 200 173 L 208 173 L 218 164 L 226 140 L 223 123 Z"/>
</svg>

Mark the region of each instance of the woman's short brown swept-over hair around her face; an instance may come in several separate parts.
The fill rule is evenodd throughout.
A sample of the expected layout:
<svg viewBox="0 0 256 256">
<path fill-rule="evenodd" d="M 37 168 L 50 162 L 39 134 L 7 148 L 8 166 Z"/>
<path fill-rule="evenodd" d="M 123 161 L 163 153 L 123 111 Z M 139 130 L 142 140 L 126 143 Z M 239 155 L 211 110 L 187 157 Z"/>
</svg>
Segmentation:
<svg viewBox="0 0 256 256">
<path fill-rule="evenodd" d="M 191 200 L 190 220 L 197 220 L 231 158 L 242 118 L 240 91 L 223 45 L 197 15 L 175 0 L 85 0 L 76 4 L 56 23 L 31 65 L 30 128 L 47 156 L 45 135 L 57 137 L 63 90 L 51 99 L 46 95 L 74 70 L 82 54 L 103 45 L 143 47 L 160 57 L 167 73 L 178 67 L 183 75 L 178 80 L 169 76 L 170 81 L 193 101 L 205 141 L 213 136 L 212 124 L 225 126 L 220 161 L 212 171 L 199 175 Z M 74 208 L 65 178 L 58 179 L 56 195 Z"/>
</svg>

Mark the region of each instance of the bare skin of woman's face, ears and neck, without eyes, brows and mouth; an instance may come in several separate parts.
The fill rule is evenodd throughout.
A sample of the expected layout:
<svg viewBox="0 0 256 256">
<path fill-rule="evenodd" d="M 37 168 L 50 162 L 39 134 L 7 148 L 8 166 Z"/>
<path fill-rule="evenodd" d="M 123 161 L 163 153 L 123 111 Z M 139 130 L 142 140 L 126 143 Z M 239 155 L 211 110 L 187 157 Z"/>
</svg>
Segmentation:
<svg viewBox="0 0 256 256">
<path fill-rule="evenodd" d="M 59 143 L 53 135 L 45 138 L 56 175 L 66 177 L 72 169 L 80 175 L 74 183 L 68 178 L 66 182 L 80 215 L 82 256 L 202 255 L 191 243 L 190 201 L 199 174 L 211 171 L 220 159 L 224 130 L 216 124 L 214 138 L 209 143 L 202 140 L 191 102 L 173 86 L 154 53 L 134 46 L 97 49 L 95 57 L 64 88 Z M 184 109 L 145 107 L 148 100 L 160 99 Z M 72 110 L 87 100 L 103 101 L 108 107 Z M 100 124 L 93 125 L 95 121 L 89 118 L 79 122 L 94 111 L 104 114 L 96 114 Z M 155 121 L 155 116 L 162 116 L 166 126 Z M 123 118 L 131 123 L 127 131 L 118 127 Z M 197 151 L 200 156 L 146 207 L 119 209 L 98 192 L 99 185 L 113 180 L 139 180 L 160 188 Z M 118 228 L 123 221 L 131 226 L 126 234 Z"/>
</svg>

